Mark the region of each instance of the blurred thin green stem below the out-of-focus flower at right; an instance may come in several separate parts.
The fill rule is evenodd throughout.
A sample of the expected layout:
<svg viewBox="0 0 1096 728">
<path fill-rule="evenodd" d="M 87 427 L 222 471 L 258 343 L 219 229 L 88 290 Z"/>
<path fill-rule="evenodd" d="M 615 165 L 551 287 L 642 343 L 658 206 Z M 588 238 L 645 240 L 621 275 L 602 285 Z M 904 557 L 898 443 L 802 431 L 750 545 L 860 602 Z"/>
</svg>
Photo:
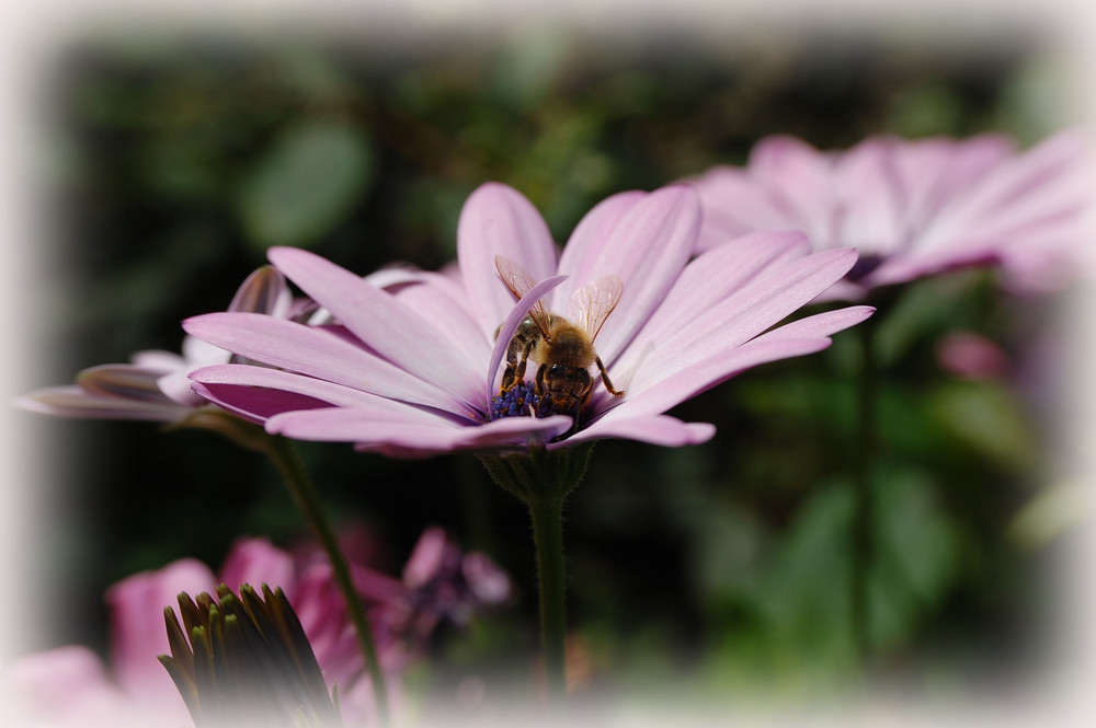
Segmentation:
<svg viewBox="0 0 1096 728">
<path fill-rule="evenodd" d="M 852 622 L 853 639 L 863 665 L 871 655 L 868 575 L 875 562 L 875 495 L 872 481 L 877 448 L 876 320 L 855 327 L 860 345 L 860 372 L 856 389 L 856 437 L 854 440 L 853 485 L 856 495 L 853 515 Z"/>
</svg>

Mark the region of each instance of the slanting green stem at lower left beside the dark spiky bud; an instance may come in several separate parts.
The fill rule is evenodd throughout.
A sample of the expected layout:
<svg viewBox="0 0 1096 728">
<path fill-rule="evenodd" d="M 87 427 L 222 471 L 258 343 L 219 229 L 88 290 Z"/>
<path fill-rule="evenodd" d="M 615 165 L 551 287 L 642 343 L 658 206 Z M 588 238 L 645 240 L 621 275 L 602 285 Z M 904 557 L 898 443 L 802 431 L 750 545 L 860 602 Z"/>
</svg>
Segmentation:
<svg viewBox="0 0 1096 728">
<path fill-rule="evenodd" d="M 294 500 L 297 501 L 297 506 L 304 511 L 305 517 L 308 519 L 317 538 L 323 545 L 323 550 L 328 554 L 335 580 L 339 582 L 339 588 L 346 600 L 346 610 L 354 621 L 362 654 L 365 656 L 369 681 L 373 683 L 374 701 L 377 704 L 378 724 L 387 727 L 391 724 L 388 709 L 388 690 L 385 685 L 385 674 L 380 671 L 380 661 L 377 659 L 377 647 L 373 642 L 373 629 L 369 627 L 368 619 L 366 619 L 362 597 L 357 593 L 354 582 L 351 579 L 350 565 L 346 563 L 346 557 L 343 556 L 342 550 L 339 547 L 334 529 L 327 513 L 323 511 L 316 486 L 312 484 L 300 460 L 300 455 L 297 453 L 296 448 L 293 447 L 290 440 L 281 436 L 273 436 L 270 438 L 265 450 L 282 472 L 286 484 L 289 486 L 289 490 L 293 493 Z"/>
</svg>

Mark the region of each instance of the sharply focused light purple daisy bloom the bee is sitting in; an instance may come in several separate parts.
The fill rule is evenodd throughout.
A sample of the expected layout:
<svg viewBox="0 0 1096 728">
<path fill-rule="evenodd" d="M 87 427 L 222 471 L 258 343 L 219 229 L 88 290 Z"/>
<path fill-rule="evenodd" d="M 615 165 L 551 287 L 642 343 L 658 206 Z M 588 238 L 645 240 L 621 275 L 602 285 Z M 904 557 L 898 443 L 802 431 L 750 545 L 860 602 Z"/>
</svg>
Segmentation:
<svg viewBox="0 0 1096 728">
<path fill-rule="evenodd" d="M 420 282 L 383 291 L 312 253 L 273 249 L 271 262 L 336 323 L 233 312 L 190 319 L 191 335 L 264 365 L 201 369 L 195 389 L 270 432 L 400 457 L 601 438 L 701 442 L 711 425 L 665 412 L 758 363 L 825 348 L 830 334 L 871 309 L 777 326 L 844 276 L 856 253 L 811 254 L 801 233 L 764 232 L 690 259 L 699 226 L 689 186 L 623 193 L 586 215 L 560 255 L 533 205 L 491 183 L 461 212 L 455 275 L 422 274 Z M 520 301 L 498 256 L 526 271 Z M 594 347 L 623 396 L 594 373 L 576 412 L 540 407 L 533 416 L 532 384 L 501 392 L 507 348 L 534 304 L 573 316 L 576 300 L 589 302 L 614 278 L 623 294 Z"/>
</svg>

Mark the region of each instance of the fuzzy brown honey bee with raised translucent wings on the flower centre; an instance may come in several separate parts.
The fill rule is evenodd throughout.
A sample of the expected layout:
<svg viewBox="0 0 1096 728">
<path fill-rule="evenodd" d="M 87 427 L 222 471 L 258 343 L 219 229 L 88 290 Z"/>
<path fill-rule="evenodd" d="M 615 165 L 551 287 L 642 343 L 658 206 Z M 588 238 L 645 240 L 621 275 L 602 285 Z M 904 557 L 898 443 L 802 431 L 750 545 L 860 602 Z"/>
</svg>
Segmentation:
<svg viewBox="0 0 1096 728">
<path fill-rule="evenodd" d="M 496 255 L 499 276 L 510 292 L 521 299 L 537 281 L 517 263 Z M 594 349 L 594 338 L 624 293 L 624 282 L 616 276 L 600 278 L 571 296 L 571 317 L 549 313 L 537 301 L 518 325 L 506 347 L 506 371 L 502 391 L 507 392 L 525 380 L 527 361 L 539 365 L 536 393 L 541 407 L 550 403 L 553 414 L 575 415 L 590 398 L 594 380 L 590 367 L 597 365 L 606 391 L 624 396 L 609 381 L 605 365 Z"/>
</svg>

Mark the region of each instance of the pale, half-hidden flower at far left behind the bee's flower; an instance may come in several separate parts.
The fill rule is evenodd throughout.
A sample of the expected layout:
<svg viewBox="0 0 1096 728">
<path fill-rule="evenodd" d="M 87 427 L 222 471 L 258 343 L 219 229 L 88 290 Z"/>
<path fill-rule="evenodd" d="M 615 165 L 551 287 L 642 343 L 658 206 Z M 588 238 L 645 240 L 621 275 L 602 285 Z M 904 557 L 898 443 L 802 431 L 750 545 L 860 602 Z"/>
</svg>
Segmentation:
<svg viewBox="0 0 1096 728">
<path fill-rule="evenodd" d="M 240 286 L 229 311 L 286 317 L 293 302 L 285 278 L 271 266 L 251 274 Z M 225 363 L 231 353 L 193 336 L 182 354 L 138 351 L 130 363 L 84 369 L 76 384 L 37 390 L 20 397 L 24 409 L 62 417 L 178 421 L 207 402 L 194 394 L 189 374 L 201 367 Z"/>
</svg>

